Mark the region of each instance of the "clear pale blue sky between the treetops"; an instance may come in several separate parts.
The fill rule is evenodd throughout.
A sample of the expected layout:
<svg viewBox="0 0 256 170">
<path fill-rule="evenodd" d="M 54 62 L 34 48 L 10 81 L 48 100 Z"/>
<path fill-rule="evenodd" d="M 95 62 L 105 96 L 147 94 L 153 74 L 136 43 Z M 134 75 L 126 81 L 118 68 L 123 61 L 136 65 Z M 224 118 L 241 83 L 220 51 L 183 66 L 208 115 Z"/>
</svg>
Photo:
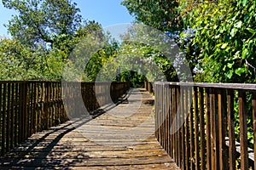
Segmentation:
<svg viewBox="0 0 256 170">
<path fill-rule="evenodd" d="M 81 14 L 84 19 L 96 20 L 103 27 L 130 23 L 133 18 L 128 13 L 127 9 L 120 5 L 122 0 L 73 0 L 78 3 L 81 9 Z M 3 24 L 7 24 L 11 19 L 13 10 L 3 8 L 3 3 L 0 3 L 0 36 L 7 35 L 7 29 Z"/>
</svg>

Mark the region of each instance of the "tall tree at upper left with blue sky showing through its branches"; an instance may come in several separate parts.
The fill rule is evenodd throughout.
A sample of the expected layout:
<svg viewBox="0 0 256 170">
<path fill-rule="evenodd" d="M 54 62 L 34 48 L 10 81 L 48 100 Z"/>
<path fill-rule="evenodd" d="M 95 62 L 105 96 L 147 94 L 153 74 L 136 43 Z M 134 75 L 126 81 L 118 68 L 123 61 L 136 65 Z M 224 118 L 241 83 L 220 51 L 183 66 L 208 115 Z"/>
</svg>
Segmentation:
<svg viewBox="0 0 256 170">
<path fill-rule="evenodd" d="M 3 5 L 18 13 L 9 20 L 10 35 L 30 48 L 69 46 L 82 17 L 70 0 L 3 0 Z M 62 44 L 61 44 L 62 43 Z M 70 47 L 67 47 L 70 48 Z"/>
</svg>

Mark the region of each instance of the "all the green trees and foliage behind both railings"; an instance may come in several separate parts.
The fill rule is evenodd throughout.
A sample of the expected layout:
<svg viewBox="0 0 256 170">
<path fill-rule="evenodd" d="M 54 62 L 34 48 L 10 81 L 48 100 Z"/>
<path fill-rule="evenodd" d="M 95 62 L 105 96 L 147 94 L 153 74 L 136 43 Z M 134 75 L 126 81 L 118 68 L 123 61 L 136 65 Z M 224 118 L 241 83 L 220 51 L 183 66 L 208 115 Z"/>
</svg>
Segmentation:
<svg viewBox="0 0 256 170">
<path fill-rule="evenodd" d="M 154 67 L 142 67 L 151 63 L 159 67 L 167 81 L 178 81 L 173 60 L 163 51 L 146 43 L 126 41 L 135 36 L 134 31 L 123 35 L 122 43 L 116 42 L 99 23 L 84 20 L 71 0 L 2 2 L 17 15 L 6 24 L 11 38 L 0 39 L 0 80 L 60 81 L 65 65 L 71 65 L 73 74 L 80 73 L 81 67 L 83 75 L 70 74 L 67 80 L 131 81 L 136 87 L 138 82 L 158 77 Z M 177 42 L 194 82 L 256 82 L 255 0 L 123 0 L 122 4 L 135 16 L 135 22 L 165 32 Z M 74 48 L 77 55 L 83 54 L 76 48 L 78 44 L 90 42 L 91 46 L 83 46 L 87 48 L 82 52 L 96 45 L 91 32 L 97 32 L 104 45 L 92 54 L 87 65 L 76 65 L 68 56 Z M 236 112 L 237 108 L 235 103 Z M 252 122 L 248 123 L 250 128 Z M 248 139 L 253 139 L 252 133 Z"/>
</svg>

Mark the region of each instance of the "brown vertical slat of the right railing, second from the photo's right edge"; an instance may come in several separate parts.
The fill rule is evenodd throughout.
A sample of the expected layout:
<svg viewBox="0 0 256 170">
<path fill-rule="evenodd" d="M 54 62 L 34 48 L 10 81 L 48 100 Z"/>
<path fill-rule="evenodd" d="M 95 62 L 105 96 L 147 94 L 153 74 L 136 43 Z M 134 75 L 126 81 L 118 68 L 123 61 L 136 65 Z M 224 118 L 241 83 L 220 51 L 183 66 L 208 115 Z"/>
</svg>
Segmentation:
<svg viewBox="0 0 256 170">
<path fill-rule="evenodd" d="M 240 144 L 241 144 L 241 169 L 248 169 L 247 151 L 247 100 L 246 92 L 238 92 L 239 99 L 239 125 L 240 125 Z"/>
</svg>

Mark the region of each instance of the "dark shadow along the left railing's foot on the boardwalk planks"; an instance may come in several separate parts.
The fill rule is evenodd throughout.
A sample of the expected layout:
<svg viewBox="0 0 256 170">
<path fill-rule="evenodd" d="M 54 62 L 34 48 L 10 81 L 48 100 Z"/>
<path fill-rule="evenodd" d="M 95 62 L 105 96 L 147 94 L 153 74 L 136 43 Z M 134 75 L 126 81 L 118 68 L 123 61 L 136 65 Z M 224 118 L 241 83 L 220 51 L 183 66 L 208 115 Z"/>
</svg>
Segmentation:
<svg viewBox="0 0 256 170">
<path fill-rule="evenodd" d="M 54 147 L 60 142 L 60 140 L 67 134 L 71 133 L 76 128 L 79 128 L 83 126 L 85 123 L 90 122 L 91 120 L 95 119 L 98 116 L 101 116 L 107 111 L 112 110 L 113 108 L 117 107 L 118 105 L 125 102 L 129 96 L 131 95 L 131 90 L 123 96 L 123 98 L 119 99 L 119 101 L 113 105 L 105 105 L 103 108 L 94 111 L 90 116 L 84 116 L 82 118 L 79 118 L 76 121 L 69 122 L 67 125 L 59 126 L 59 127 L 51 127 L 49 129 L 48 133 L 45 133 L 44 136 L 42 136 L 39 139 L 27 139 L 25 142 L 20 144 L 15 149 L 11 150 L 9 153 L 5 154 L 4 156 L 0 157 L 0 169 L 9 169 L 9 168 L 15 168 L 19 167 L 19 169 L 27 169 L 29 167 L 38 167 L 38 166 L 47 166 L 50 168 L 54 167 L 62 167 L 62 166 L 73 166 L 79 161 L 79 154 L 77 159 L 68 159 L 68 156 L 63 156 L 61 159 L 55 159 L 55 160 L 49 160 L 47 161 L 47 156 L 50 152 L 54 149 Z M 47 143 L 49 139 L 47 139 L 50 135 L 54 135 L 55 133 L 59 133 L 57 136 L 55 136 L 55 139 L 51 139 L 52 141 L 49 144 L 44 145 L 43 149 L 37 149 L 37 147 L 42 146 L 42 144 Z M 35 134 L 37 135 L 37 133 Z M 63 151 L 65 150 L 72 150 L 72 146 L 61 146 L 61 149 Z M 62 152 L 63 152 L 62 151 Z M 27 158 L 32 153 L 37 153 L 36 155 L 32 156 L 32 159 Z M 89 159 L 89 156 L 87 156 Z M 86 156 L 83 155 L 83 161 L 87 159 Z M 72 161 L 71 161 L 72 160 Z"/>
</svg>

